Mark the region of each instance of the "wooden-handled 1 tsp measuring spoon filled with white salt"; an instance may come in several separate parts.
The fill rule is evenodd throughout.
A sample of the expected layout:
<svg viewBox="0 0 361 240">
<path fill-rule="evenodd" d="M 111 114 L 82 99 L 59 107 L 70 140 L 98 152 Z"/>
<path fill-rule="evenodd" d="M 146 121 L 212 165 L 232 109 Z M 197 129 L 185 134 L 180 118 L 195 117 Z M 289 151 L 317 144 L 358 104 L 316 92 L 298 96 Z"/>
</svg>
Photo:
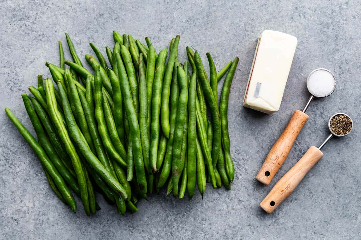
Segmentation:
<svg viewBox="0 0 361 240">
<path fill-rule="evenodd" d="M 305 113 L 308 106 L 314 97 L 325 98 L 330 96 L 335 90 L 336 81 L 334 74 L 325 68 L 318 68 L 313 70 L 306 80 L 307 89 L 311 96 L 308 99 L 302 111 L 295 110 L 290 122 L 283 130 L 281 136 L 269 151 L 256 179 L 263 184 L 269 185 L 272 178 L 278 169 L 286 160 L 288 153 L 292 148 L 296 137 L 308 120 L 308 115 Z"/>
</svg>

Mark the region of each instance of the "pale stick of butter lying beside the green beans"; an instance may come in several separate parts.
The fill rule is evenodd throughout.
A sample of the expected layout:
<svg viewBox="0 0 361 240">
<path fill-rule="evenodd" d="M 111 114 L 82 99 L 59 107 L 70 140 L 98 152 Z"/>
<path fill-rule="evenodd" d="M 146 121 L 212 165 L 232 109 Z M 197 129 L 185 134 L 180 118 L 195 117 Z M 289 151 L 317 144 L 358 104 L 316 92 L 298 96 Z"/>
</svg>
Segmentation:
<svg viewBox="0 0 361 240">
<path fill-rule="evenodd" d="M 297 38 L 265 30 L 258 38 L 243 106 L 264 113 L 277 112 L 295 54 Z"/>
</svg>

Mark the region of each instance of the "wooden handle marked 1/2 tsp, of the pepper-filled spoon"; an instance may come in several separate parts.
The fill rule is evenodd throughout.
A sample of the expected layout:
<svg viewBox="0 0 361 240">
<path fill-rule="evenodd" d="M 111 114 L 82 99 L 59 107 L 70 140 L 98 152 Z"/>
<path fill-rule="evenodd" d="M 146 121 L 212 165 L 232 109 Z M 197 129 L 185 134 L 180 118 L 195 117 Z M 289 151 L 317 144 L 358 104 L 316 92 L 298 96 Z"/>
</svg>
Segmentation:
<svg viewBox="0 0 361 240">
<path fill-rule="evenodd" d="M 322 157 L 322 151 L 315 146 L 311 146 L 295 166 L 274 185 L 270 193 L 261 202 L 261 208 L 268 213 L 272 213 L 295 190 L 314 164 Z"/>
</svg>

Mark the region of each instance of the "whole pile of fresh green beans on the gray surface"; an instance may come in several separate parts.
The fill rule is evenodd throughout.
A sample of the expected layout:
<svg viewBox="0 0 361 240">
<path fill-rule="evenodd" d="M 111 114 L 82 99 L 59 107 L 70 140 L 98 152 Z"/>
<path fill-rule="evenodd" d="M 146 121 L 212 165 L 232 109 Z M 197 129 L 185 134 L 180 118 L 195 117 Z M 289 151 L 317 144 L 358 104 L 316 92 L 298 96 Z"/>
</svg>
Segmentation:
<svg viewBox="0 0 361 240">
<path fill-rule="evenodd" d="M 109 64 L 90 43 L 96 57 L 85 55 L 87 69 L 65 35 L 72 60 L 59 41 L 60 63 L 45 63 L 51 78 L 39 75 L 37 87 L 29 87 L 33 96 L 21 95 L 37 140 L 5 109 L 64 204 L 76 212 L 74 193 L 90 216 L 100 210 L 99 193 L 124 214 L 162 187 L 179 199 L 187 190 L 188 200 L 196 186 L 203 199 L 207 182 L 231 189 L 227 109 L 238 57 L 217 73 L 207 53 L 208 77 L 190 47 L 188 60 L 179 62 L 180 35 L 157 53 L 149 37 L 144 44 L 113 31 L 114 47 L 105 47 Z"/>
</svg>

